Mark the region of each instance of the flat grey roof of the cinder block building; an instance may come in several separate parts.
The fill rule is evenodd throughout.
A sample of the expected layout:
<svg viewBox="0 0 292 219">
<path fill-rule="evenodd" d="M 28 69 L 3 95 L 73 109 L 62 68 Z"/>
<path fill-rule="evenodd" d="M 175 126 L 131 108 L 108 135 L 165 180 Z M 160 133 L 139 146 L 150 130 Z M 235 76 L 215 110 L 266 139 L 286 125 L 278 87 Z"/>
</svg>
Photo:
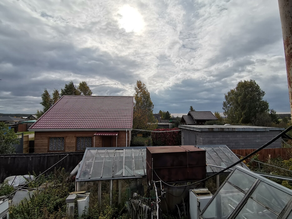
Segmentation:
<svg viewBox="0 0 292 219">
<path fill-rule="evenodd" d="M 262 127 L 251 125 L 179 125 L 181 129 L 190 129 L 195 131 L 275 131 L 285 130 L 278 127 Z"/>
</svg>

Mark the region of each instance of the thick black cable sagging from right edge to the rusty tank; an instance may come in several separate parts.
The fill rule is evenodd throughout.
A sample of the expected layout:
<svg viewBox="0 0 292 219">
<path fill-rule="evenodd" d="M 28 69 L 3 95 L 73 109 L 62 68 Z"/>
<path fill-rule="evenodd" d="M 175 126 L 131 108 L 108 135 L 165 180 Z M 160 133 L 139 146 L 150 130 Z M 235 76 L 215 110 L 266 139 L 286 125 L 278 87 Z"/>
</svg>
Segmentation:
<svg viewBox="0 0 292 219">
<path fill-rule="evenodd" d="M 281 137 L 282 135 L 284 135 L 285 133 L 287 133 L 287 132 L 290 131 L 291 129 L 292 129 L 292 125 L 290 125 L 287 129 L 285 129 L 284 131 L 282 131 L 279 135 L 277 135 L 277 136 L 274 137 L 273 139 L 269 140 L 269 141 L 268 141 L 267 143 L 265 143 L 263 146 L 259 147 L 257 150 L 254 150 L 253 152 L 251 152 L 250 154 L 246 155 L 246 156 L 243 157 L 242 159 L 238 160 L 238 161 L 235 162 L 234 164 L 232 164 L 232 165 L 230 165 L 230 166 L 224 168 L 223 170 L 221 170 L 221 171 L 219 171 L 219 172 L 213 174 L 212 176 L 208 176 L 207 178 L 205 178 L 205 179 L 203 179 L 203 180 L 200 180 L 200 181 L 194 182 L 194 183 L 192 183 L 192 184 L 188 184 L 188 186 L 189 186 L 189 185 L 198 184 L 198 183 L 200 183 L 200 182 L 204 182 L 204 181 L 206 181 L 206 180 L 208 180 L 208 179 L 211 179 L 211 178 L 214 177 L 214 176 L 219 175 L 220 173 L 223 173 L 224 171 L 230 169 L 231 167 L 236 166 L 237 164 L 239 164 L 239 163 L 242 162 L 243 160 L 248 159 L 250 156 L 256 154 L 256 153 L 259 152 L 260 150 L 262 150 L 262 149 L 264 149 L 265 147 L 267 147 L 268 145 L 272 144 L 275 140 L 277 140 L 279 137 Z M 154 173 L 156 174 L 156 176 L 158 177 L 158 179 L 161 180 L 160 177 L 157 175 L 156 171 L 155 171 L 154 169 L 153 169 L 153 171 L 154 171 Z M 170 185 L 170 184 L 167 184 L 167 183 L 164 182 L 163 180 L 161 180 L 161 182 L 163 182 L 163 183 L 166 184 L 167 186 L 172 186 L 172 185 Z M 172 186 L 172 187 L 184 187 L 184 186 L 185 186 L 185 185 L 183 185 L 183 186 Z"/>
</svg>

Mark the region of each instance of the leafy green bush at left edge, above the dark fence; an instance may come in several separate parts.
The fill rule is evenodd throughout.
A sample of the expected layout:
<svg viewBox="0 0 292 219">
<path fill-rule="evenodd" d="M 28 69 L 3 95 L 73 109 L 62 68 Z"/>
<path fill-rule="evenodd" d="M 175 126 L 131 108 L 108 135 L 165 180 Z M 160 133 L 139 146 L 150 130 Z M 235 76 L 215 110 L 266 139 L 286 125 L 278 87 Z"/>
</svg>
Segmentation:
<svg viewBox="0 0 292 219">
<path fill-rule="evenodd" d="M 0 154 L 14 154 L 14 144 L 18 144 L 19 140 L 15 135 L 14 129 L 9 129 L 9 125 L 0 122 Z"/>
</svg>

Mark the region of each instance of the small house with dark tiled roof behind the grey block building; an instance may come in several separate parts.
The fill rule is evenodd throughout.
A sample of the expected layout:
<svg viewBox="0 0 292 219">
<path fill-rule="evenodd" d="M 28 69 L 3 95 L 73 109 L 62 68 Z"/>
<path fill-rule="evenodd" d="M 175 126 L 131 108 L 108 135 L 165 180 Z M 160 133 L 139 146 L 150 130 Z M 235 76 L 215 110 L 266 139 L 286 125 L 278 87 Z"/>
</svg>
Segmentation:
<svg viewBox="0 0 292 219">
<path fill-rule="evenodd" d="M 210 120 L 218 120 L 211 111 L 189 111 L 182 116 L 181 125 L 204 125 Z"/>
</svg>

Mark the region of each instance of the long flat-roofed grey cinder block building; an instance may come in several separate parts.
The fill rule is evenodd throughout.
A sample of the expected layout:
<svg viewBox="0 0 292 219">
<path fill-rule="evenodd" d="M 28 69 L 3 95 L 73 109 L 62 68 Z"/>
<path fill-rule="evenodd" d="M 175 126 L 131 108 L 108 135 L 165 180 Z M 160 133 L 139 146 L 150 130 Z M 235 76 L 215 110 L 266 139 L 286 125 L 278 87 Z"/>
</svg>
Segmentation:
<svg viewBox="0 0 292 219">
<path fill-rule="evenodd" d="M 182 145 L 227 145 L 230 149 L 257 149 L 284 128 L 245 125 L 180 125 Z M 281 138 L 267 148 L 281 147 Z"/>
</svg>

